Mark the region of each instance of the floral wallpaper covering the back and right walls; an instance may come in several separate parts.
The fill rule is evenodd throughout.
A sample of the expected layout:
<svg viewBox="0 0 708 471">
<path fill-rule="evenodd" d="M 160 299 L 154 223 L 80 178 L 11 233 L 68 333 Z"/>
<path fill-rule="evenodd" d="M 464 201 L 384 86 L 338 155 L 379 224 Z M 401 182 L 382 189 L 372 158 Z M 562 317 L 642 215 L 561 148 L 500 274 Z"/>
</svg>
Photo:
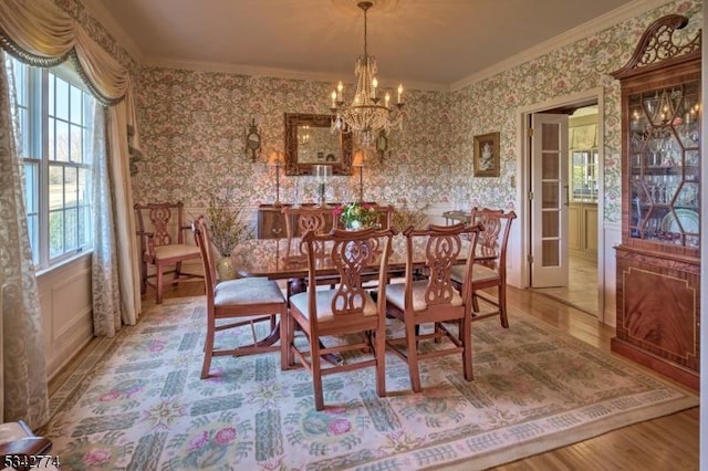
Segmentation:
<svg viewBox="0 0 708 471">
<path fill-rule="evenodd" d="M 110 33 L 91 19 L 80 0 L 54 0 L 94 40 L 135 71 L 138 124 L 145 161 L 135 175 L 136 202 L 181 200 L 207 206 L 209 191 L 231 191 L 252 207 L 275 199 L 274 167 L 268 155 L 283 151 L 284 113 L 329 113 L 331 83 L 180 69 L 138 67 Z M 391 154 L 371 153 L 364 167 L 366 200 L 415 206 L 452 202 L 517 209 L 517 116 L 520 107 L 602 87 L 604 91 L 604 210 L 621 218 L 621 107 L 618 83 L 608 75 L 623 66 L 646 27 L 669 13 L 691 20 L 686 36 L 702 24 L 701 0 L 677 0 L 573 44 L 454 92 L 407 92 L 403 128 L 391 137 Z M 353 78 L 353 77 L 352 77 Z M 262 133 L 256 163 L 243 146 L 251 118 Z M 472 176 L 473 136 L 499 130 L 501 175 Z M 282 171 L 282 170 L 281 170 Z M 280 199 L 293 200 L 295 186 L 314 201 L 309 177 L 281 174 Z M 461 190 L 460 190 L 461 188 Z M 329 200 L 355 198 L 358 175 L 333 177 Z"/>
</svg>

